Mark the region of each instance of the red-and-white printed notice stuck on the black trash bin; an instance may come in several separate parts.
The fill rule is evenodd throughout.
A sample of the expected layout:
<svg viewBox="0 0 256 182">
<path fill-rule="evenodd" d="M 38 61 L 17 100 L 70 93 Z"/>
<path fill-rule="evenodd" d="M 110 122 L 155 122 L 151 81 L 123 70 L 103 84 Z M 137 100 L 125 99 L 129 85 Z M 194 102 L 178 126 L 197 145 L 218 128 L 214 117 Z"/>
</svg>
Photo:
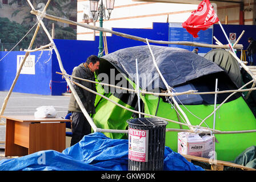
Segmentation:
<svg viewBox="0 0 256 182">
<path fill-rule="evenodd" d="M 129 159 L 147 162 L 149 131 L 129 128 Z"/>
</svg>

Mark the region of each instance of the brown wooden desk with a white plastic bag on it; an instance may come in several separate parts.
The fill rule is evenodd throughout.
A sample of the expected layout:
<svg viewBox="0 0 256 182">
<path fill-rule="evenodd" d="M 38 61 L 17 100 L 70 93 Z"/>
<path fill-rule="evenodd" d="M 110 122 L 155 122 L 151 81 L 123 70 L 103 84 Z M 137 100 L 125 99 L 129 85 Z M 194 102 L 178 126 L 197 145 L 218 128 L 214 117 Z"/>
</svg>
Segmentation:
<svg viewBox="0 0 256 182">
<path fill-rule="evenodd" d="M 23 156 L 41 150 L 66 148 L 66 123 L 70 119 L 0 115 L 6 118 L 5 156 Z"/>
</svg>

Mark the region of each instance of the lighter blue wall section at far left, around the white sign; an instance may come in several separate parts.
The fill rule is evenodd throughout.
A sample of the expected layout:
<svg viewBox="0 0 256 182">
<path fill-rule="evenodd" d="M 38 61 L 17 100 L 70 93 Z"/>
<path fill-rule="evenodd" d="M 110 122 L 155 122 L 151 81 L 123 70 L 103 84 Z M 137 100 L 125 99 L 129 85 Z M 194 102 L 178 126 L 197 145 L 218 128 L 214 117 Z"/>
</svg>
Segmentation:
<svg viewBox="0 0 256 182">
<path fill-rule="evenodd" d="M 0 59 L 7 52 L 0 52 Z M 42 55 L 41 55 L 42 53 Z M 10 52 L 0 61 L 0 90 L 8 91 L 13 84 L 17 72 L 17 56 L 25 55 L 24 51 Z M 50 95 L 51 59 L 49 51 L 32 52 L 35 55 L 35 75 L 21 74 L 14 86 L 13 92 Z M 41 57 L 40 57 L 41 55 Z M 40 57 L 40 59 L 38 59 Z M 37 61 L 38 60 L 38 61 Z"/>
</svg>

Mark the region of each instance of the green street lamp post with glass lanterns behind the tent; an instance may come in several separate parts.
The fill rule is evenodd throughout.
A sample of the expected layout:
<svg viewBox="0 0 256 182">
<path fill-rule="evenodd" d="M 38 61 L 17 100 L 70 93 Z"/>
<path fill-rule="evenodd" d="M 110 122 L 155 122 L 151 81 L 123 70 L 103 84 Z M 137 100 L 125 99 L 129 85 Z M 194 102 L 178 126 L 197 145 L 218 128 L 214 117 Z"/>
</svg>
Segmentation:
<svg viewBox="0 0 256 182">
<path fill-rule="evenodd" d="M 99 27 L 103 27 L 103 18 L 106 20 L 109 20 L 111 11 L 114 9 L 114 3 L 115 0 L 106 0 L 106 9 L 109 15 L 106 16 L 105 13 L 105 6 L 103 5 L 103 1 L 101 0 L 101 5 L 99 5 L 98 8 L 98 2 L 99 0 L 90 0 L 90 10 L 91 14 L 93 14 L 93 20 L 96 21 L 99 17 Z M 98 13 L 97 13 L 98 11 Z M 102 31 L 99 31 L 99 53 L 98 57 L 101 57 L 102 51 L 103 51 L 103 36 Z"/>
</svg>

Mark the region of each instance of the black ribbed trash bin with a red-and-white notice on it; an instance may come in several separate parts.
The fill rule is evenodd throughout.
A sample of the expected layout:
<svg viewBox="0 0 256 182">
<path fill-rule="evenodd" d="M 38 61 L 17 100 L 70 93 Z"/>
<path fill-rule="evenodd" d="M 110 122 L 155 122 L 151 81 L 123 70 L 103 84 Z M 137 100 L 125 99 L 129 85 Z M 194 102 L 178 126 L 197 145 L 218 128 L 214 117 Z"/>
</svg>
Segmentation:
<svg viewBox="0 0 256 182">
<path fill-rule="evenodd" d="M 157 118 L 127 120 L 129 171 L 162 171 L 167 122 Z"/>
</svg>

